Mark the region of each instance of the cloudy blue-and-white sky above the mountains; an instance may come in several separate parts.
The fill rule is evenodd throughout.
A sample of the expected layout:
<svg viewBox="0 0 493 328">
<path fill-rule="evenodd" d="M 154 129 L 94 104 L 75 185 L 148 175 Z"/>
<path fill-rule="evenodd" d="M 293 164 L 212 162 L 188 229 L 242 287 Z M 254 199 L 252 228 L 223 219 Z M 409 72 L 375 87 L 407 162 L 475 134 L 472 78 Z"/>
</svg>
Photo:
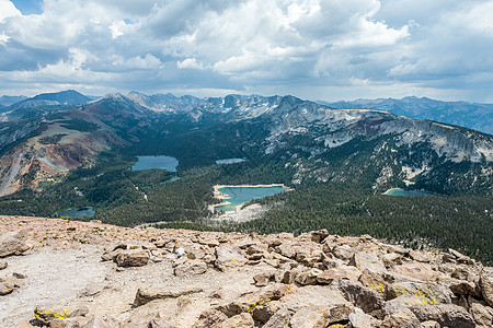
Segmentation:
<svg viewBox="0 0 493 328">
<path fill-rule="evenodd" d="M 493 0 L 0 0 L 0 95 L 493 103 Z"/>
</svg>

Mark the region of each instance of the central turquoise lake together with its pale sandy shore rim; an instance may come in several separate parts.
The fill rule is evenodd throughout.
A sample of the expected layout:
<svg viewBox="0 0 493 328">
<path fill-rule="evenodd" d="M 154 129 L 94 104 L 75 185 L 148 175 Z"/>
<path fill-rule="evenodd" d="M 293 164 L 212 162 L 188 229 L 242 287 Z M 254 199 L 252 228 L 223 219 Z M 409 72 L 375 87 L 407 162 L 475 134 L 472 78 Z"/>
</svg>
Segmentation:
<svg viewBox="0 0 493 328">
<path fill-rule="evenodd" d="M 210 206 L 209 210 L 213 212 L 230 212 L 239 209 L 243 203 L 253 199 L 260 199 L 290 190 L 293 189 L 282 184 L 239 186 L 218 185 L 214 186 L 214 196 L 223 201 L 221 203 Z"/>
</svg>

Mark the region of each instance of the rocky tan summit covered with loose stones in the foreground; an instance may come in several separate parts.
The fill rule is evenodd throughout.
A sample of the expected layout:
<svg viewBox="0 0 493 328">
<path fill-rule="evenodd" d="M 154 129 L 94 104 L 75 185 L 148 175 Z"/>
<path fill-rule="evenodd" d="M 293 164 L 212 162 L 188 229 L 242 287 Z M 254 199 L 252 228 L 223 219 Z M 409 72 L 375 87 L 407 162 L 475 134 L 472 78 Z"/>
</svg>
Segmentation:
<svg viewBox="0 0 493 328">
<path fill-rule="evenodd" d="M 493 268 L 294 236 L 0 216 L 0 327 L 492 327 Z"/>
</svg>

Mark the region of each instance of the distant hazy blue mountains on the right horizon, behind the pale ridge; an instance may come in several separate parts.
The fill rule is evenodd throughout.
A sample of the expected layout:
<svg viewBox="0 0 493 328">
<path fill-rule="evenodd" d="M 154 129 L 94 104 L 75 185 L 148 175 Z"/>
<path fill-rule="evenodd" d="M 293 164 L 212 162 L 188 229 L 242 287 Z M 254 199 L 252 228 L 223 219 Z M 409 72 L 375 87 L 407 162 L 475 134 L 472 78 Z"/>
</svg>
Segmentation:
<svg viewBox="0 0 493 328">
<path fill-rule="evenodd" d="M 440 102 L 414 96 L 402 99 L 378 98 L 353 102 L 321 102 L 332 108 L 380 109 L 414 119 L 429 119 L 493 134 L 493 105 L 467 102 Z"/>
</svg>

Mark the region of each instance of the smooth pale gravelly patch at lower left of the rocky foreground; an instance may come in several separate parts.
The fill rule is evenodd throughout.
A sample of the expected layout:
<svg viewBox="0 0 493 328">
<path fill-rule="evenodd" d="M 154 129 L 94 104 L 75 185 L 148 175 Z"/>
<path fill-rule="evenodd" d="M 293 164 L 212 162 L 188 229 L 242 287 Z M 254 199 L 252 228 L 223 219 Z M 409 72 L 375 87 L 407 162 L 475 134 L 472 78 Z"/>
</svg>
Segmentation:
<svg viewBox="0 0 493 328">
<path fill-rule="evenodd" d="M 104 281 L 112 272 L 111 266 L 100 261 L 96 246 L 79 248 L 41 248 L 26 256 L 11 257 L 5 276 L 23 272 L 25 285 L 2 296 L 0 301 L 0 327 L 15 327 L 22 320 L 32 319 L 36 305 L 50 306 L 71 301 L 90 282 Z"/>
</svg>

